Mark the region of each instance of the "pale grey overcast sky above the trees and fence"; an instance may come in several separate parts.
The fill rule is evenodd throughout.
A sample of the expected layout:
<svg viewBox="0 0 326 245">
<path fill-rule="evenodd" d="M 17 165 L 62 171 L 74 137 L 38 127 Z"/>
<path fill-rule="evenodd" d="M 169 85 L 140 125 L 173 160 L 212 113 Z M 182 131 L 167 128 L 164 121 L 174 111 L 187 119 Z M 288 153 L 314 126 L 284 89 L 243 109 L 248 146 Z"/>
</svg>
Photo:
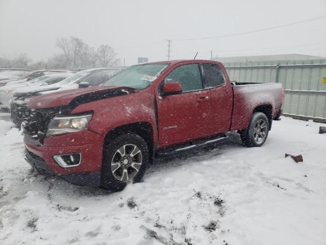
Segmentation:
<svg viewBox="0 0 326 245">
<path fill-rule="evenodd" d="M 46 60 L 60 50 L 56 38 L 75 36 L 91 46 L 109 44 L 126 65 L 137 57 L 171 59 L 263 54 L 326 56 L 326 18 L 230 37 L 326 16 L 326 0 L 73 1 L 0 0 L 0 56 L 26 53 Z"/>
</svg>

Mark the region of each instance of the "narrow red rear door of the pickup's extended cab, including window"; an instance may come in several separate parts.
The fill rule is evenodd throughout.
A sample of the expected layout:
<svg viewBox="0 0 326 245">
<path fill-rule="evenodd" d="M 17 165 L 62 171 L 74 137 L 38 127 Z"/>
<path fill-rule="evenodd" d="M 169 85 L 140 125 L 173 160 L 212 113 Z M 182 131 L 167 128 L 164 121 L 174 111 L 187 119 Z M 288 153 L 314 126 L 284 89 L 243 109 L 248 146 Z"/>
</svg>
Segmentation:
<svg viewBox="0 0 326 245">
<path fill-rule="evenodd" d="M 226 133 L 230 129 L 233 92 L 226 83 L 223 71 L 218 64 L 201 65 L 204 88 L 209 89 L 211 96 L 210 134 Z"/>
</svg>

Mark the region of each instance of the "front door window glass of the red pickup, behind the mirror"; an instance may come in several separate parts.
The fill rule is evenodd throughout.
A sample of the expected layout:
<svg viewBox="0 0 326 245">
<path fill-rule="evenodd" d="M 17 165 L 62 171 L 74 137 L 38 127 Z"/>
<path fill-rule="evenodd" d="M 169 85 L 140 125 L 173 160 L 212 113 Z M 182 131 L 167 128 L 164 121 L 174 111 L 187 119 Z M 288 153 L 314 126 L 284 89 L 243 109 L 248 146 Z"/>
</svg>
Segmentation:
<svg viewBox="0 0 326 245">
<path fill-rule="evenodd" d="M 165 83 L 179 82 L 183 92 L 203 89 L 199 65 L 182 65 L 175 68 L 165 79 Z"/>
</svg>

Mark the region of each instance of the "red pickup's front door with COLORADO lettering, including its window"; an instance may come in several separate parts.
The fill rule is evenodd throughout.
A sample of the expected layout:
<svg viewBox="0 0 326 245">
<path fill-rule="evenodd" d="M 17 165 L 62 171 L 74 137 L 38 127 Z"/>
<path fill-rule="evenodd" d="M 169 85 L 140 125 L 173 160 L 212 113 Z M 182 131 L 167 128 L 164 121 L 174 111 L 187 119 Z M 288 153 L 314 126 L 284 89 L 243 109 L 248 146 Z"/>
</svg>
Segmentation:
<svg viewBox="0 0 326 245">
<path fill-rule="evenodd" d="M 160 144 L 205 137 L 209 133 L 210 91 L 203 87 L 199 64 L 178 66 L 158 89 L 169 82 L 179 82 L 182 93 L 157 98 Z"/>
</svg>

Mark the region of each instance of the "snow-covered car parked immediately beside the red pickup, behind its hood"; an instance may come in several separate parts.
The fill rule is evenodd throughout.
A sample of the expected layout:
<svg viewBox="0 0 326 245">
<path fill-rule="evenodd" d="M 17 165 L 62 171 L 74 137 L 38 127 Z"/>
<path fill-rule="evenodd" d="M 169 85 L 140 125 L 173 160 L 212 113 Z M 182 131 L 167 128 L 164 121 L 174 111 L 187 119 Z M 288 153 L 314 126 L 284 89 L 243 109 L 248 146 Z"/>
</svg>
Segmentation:
<svg viewBox="0 0 326 245">
<path fill-rule="evenodd" d="M 57 90 L 99 86 L 120 70 L 113 68 L 88 69 L 79 71 L 75 75 L 53 85 L 19 89 L 13 94 L 9 103 L 11 120 L 14 124 L 21 124 L 23 120 L 28 118 L 30 110 L 26 107 L 26 103 L 34 96 L 48 94 Z"/>
</svg>

